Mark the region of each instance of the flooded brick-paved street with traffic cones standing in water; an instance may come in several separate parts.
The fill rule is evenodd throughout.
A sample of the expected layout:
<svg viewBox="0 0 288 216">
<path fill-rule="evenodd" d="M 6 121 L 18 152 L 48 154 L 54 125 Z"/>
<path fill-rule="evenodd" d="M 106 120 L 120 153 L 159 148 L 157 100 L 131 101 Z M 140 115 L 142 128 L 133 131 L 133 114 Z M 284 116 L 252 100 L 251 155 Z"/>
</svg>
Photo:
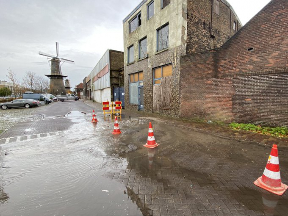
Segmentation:
<svg viewBox="0 0 288 216">
<path fill-rule="evenodd" d="M 46 106 L 47 108 L 48 106 Z M 287 215 L 282 196 L 256 187 L 271 146 L 223 139 L 82 101 L 56 102 L 0 136 L 0 215 Z M 5 111 L 1 111 L 3 113 Z M 147 149 L 152 122 L 156 149 Z M 288 149 L 279 147 L 288 183 Z"/>
</svg>

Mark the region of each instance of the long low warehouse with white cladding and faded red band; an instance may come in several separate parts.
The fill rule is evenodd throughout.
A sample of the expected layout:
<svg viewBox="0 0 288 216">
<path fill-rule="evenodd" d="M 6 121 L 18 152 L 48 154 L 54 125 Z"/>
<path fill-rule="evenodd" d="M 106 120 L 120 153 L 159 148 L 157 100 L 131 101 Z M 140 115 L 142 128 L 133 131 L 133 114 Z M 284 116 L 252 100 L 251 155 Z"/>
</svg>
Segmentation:
<svg viewBox="0 0 288 216">
<path fill-rule="evenodd" d="M 123 52 L 108 49 L 84 78 L 84 98 L 98 103 L 113 101 L 113 89 L 124 86 Z M 84 84 L 85 83 L 85 84 Z"/>
</svg>

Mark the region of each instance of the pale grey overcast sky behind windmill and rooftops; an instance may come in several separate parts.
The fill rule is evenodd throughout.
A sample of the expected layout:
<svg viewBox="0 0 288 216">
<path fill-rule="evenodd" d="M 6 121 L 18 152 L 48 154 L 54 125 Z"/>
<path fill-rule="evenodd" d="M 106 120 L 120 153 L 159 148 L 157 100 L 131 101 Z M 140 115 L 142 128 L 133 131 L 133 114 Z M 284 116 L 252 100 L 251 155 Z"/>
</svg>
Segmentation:
<svg viewBox="0 0 288 216">
<path fill-rule="evenodd" d="M 270 0 L 228 0 L 246 24 Z M 75 61 L 64 63 L 62 73 L 71 86 L 83 81 L 104 52 L 123 51 L 122 20 L 141 0 L 0 0 L 0 80 L 11 68 L 21 80 L 25 71 L 50 73 L 45 56 L 56 55 Z"/>
</svg>

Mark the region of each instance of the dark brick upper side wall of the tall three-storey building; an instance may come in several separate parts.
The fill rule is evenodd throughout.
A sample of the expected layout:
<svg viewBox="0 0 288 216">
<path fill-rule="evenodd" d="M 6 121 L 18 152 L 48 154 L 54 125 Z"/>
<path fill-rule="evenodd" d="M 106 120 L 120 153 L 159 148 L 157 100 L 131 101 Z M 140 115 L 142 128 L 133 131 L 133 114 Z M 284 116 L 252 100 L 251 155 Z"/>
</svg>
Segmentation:
<svg viewBox="0 0 288 216">
<path fill-rule="evenodd" d="M 220 47 L 241 28 L 230 7 L 220 0 L 219 15 L 212 13 L 213 0 L 187 1 L 187 54 Z M 238 23 L 233 30 L 234 21 Z"/>
</svg>

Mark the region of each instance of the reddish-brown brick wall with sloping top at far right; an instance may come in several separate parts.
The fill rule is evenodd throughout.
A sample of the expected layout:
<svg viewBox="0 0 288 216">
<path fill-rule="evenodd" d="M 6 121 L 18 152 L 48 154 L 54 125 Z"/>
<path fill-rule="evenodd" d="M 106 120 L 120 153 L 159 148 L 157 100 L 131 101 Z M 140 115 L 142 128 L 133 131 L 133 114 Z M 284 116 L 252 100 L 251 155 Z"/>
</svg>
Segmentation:
<svg viewBox="0 0 288 216">
<path fill-rule="evenodd" d="M 180 116 L 288 126 L 287 23 L 272 0 L 221 48 L 183 56 Z"/>
</svg>

